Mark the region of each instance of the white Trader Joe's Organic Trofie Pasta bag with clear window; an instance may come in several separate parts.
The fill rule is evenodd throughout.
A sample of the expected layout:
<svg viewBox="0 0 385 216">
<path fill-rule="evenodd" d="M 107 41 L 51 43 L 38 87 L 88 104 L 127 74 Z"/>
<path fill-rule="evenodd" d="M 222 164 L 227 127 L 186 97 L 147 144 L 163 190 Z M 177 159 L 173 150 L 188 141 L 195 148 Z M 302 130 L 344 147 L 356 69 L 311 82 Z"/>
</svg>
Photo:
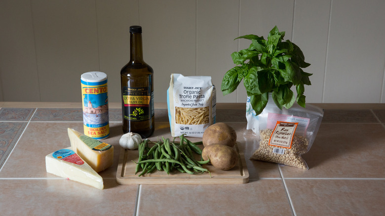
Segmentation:
<svg viewBox="0 0 385 216">
<path fill-rule="evenodd" d="M 172 73 L 167 108 L 172 137 L 202 138 L 204 130 L 215 123 L 216 90 L 211 76 Z"/>
</svg>

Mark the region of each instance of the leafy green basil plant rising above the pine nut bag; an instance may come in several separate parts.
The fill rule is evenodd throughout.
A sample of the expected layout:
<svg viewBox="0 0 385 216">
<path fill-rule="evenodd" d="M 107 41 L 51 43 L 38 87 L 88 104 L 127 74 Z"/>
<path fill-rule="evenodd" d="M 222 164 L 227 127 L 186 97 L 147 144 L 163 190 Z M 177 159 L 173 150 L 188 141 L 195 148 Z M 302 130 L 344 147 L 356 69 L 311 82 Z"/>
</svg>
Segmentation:
<svg viewBox="0 0 385 216">
<path fill-rule="evenodd" d="M 260 114 L 272 94 L 278 108 L 291 108 L 295 101 L 305 108 L 305 87 L 311 85 L 309 76 L 304 72 L 310 64 L 300 47 L 290 40 L 283 40 L 285 32 L 279 32 L 275 26 L 268 39 L 263 36 L 245 35 L 235 39 L 251 40 L 249 48 L 231 54 L 235 66 L 223 77 L 221 90 L 223 95 L 233 92 L 243 79 L 243 84 L 250 97 L 250 103 L 256 114 Z M 235 40 L 234 39 L 234 40 Z M 296 87 L 297 96 L 291 90 Z"/>
</svg>

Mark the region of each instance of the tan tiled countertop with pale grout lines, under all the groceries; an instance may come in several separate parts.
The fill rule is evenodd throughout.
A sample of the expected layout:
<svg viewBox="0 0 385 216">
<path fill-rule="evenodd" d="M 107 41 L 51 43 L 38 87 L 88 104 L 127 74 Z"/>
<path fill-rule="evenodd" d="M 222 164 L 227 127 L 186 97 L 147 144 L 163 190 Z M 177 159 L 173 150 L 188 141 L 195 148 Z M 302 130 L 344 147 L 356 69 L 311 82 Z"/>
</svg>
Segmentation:
<svg viewBox="0 0 385 216">
<path fill-rule="evenodd" d="M 385 215 L 385 104 L 315 104 L 325 109 L 303 155 L 309 170 L 248 158 L 244 104 L 218 104 L 217 122 L 237 132 L 250 174 L 246 184 L 116 183 L 119 104 L 110 104 L 114 165 L 99 190 L 46 173 L 45 155 L 68 147 L 67 128 L 82 131 L 78 103 L 0 102 L 0 215 Z M 170 137 L 167 107 L 155 104 L 152 138 Z"/>
</svg>

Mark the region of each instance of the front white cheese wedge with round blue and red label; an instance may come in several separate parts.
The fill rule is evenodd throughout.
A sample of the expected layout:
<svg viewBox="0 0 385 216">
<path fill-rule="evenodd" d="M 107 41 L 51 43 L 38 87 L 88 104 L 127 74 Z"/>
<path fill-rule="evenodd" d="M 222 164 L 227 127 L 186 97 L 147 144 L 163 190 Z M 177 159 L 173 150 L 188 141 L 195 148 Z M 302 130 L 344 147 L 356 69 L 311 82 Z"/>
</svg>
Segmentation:
<svg viewBox="0 0 385 216">
<path fill-rule="evenodd" d="M 45 156 L 47 173 L 75 180 L 103 189 L 103 178 L 99 176 L 71 147 L 63 148 Z"/>
</svg>

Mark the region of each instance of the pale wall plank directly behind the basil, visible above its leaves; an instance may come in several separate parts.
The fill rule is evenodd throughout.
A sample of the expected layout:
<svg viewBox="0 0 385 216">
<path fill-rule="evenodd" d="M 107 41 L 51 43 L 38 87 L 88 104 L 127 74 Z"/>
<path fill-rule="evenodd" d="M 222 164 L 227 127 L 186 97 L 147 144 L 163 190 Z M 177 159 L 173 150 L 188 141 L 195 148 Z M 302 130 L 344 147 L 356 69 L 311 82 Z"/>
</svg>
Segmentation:
<svg viewBox="0 0 385 216">
<path fill-rule="evenodd" d="M 240 34 L 264 36 L 267 39 L 270 30 L 277 26 L 280 32 L 285 32 L 284 39 L 292 35 L 294 0 L 241 0 L 240 4 Z M 239 40 L 239 50 L 248 48 L 251 41 Z M 247 94 L 243 82 L 239 84 L 236 102 L 245 103 Z"/>
</svg>

